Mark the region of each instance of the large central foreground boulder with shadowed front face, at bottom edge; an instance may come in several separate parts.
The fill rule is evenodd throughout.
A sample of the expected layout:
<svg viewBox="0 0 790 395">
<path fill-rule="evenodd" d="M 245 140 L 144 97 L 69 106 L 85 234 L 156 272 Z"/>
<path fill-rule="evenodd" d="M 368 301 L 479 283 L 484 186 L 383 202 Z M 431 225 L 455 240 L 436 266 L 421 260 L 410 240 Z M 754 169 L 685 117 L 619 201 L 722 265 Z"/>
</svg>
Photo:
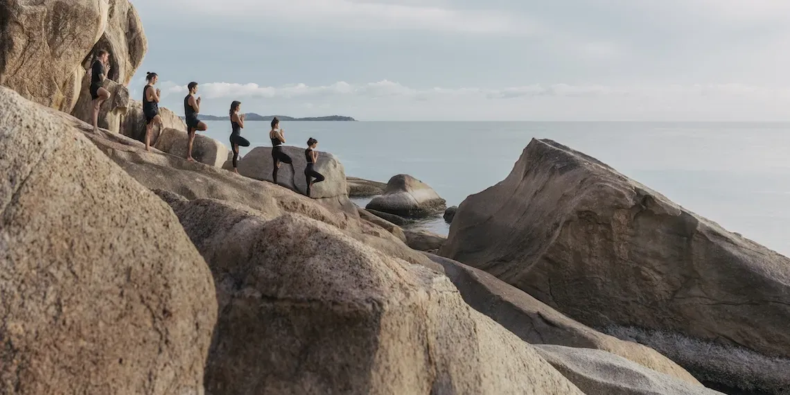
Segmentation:
<svg viewBox="0 0 790 395">
<path fill-rule="evenodd" d="M 209 393 L 581 393 L 441 274 L 304 216 L 164 198 L 215 278 Z"/>
</svg>

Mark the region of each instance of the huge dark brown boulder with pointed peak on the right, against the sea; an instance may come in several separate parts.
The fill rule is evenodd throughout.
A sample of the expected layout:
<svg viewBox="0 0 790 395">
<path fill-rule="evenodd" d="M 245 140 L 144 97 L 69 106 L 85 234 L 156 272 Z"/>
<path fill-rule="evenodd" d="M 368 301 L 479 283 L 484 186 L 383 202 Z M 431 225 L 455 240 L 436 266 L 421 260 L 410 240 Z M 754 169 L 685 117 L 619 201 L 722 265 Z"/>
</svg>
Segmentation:
<svg viewBox="0 0 790 395">
<path fill-rule="evenodd" d="M 729 349 L 662 344 L 704 381 L 790 386 L 790 259 L 554 141 L 533 140 L 504 181 L 467 198 L 441 254 L 592 327 Z M 743 349 L 784 369 L 751 371 Z"/>
</svg>

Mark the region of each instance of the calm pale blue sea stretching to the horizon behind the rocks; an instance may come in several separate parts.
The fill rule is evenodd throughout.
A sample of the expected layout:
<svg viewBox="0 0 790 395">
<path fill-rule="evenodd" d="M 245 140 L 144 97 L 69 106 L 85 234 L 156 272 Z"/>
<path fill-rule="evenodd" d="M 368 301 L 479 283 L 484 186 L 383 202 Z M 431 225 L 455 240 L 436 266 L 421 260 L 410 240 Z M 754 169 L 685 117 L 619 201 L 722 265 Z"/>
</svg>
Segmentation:
<svg viewBox="0 0 790 395">
<path fill-rule="evenodd" d="M 230 122 L 208 122 L 228 145 Z M 283 122 L 288 145 L 318 139 L 347 175 L 427 182 L 458 205 L 510 173 L 532 137 L 551 138 L 718 222 L 790 255 L 790 123 L 662 122 Z M 268 122 L 242 135 L 269 146 Z M 360 201 L 360 205 L 367 201 Z M 439 219 L 420 224 L 446 234 Z"/>
</svg>

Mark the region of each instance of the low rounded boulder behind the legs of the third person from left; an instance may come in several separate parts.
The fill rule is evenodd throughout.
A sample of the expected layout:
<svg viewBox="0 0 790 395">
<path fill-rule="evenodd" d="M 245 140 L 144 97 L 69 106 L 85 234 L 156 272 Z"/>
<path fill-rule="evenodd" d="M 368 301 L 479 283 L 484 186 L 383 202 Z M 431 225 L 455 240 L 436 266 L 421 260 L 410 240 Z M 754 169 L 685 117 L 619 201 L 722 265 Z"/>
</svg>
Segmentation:
<svg viewBox="0 0 790 395">
<path fill-rule="evenodd" d="M 189 134 L 183 130 L 165 129 L 156 138 L 156 149 L 167 152 L 171 155 L 186 158 L 186 149 L 189 142 Z M 222 167 L 228 160 L 228 147 L 203 134 L 195 134 L 192 144 L 192 157 L 201 164 L 208 164 L 213 167 Z"/>
</svg>

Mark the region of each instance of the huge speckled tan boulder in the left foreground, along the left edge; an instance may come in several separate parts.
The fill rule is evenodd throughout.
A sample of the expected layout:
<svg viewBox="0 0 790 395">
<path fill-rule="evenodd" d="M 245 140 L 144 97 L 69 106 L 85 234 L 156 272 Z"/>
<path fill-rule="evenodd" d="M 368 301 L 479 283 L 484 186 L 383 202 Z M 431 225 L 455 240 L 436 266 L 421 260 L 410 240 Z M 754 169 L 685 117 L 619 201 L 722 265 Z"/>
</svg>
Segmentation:
<svg viewBox="0 0 790 395">
<path fill-rule="evenodd" d="M 209 268 L 74 122 L 0 87 L 0 393 L 203 393 Z"/>
</svg>

